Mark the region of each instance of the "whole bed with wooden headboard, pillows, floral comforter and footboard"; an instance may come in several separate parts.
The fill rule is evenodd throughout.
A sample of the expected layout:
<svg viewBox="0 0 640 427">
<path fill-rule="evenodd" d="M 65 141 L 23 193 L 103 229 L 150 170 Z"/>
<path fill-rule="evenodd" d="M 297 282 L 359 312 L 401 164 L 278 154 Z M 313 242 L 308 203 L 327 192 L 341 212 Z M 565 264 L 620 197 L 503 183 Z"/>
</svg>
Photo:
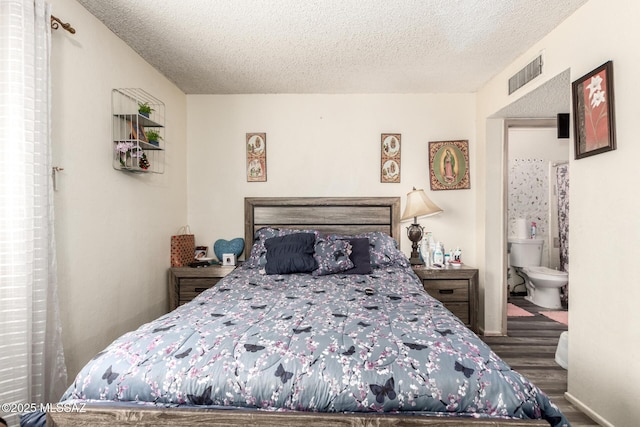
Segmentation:
<svg viewBox="0 0 640 427">
<path fill-rule="evenodd" d="M 83 412 L 47 425 L 569 425 L 424 292 L 399 218 L 397 197 L 246 198 L 246 262 L 98 353 L 61 400 Z"/>
</svg>

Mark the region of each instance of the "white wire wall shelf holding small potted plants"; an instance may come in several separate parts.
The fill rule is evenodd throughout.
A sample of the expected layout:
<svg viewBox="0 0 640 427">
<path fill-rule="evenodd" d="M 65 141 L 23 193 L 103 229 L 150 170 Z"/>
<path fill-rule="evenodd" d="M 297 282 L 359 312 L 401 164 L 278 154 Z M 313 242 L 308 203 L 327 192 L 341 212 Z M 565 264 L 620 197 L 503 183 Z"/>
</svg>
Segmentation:
<svg viewBox="0 0 640 427">
<path fill-rule="evenodd" d="M 140 112 L 146 105 L 151 111 Z M 164 103 L 142 89 L 113 89 L 113 168 L 137 173 L 164 173 Z M 156 140 L 148 138 L 155 132 Z"/>
</svg>

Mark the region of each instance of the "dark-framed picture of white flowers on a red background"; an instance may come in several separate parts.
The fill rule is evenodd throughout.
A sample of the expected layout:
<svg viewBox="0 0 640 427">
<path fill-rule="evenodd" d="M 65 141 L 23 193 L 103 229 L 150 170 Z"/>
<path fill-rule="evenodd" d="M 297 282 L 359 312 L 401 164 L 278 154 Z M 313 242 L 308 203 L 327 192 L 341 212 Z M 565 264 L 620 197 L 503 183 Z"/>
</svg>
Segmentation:
<svg viewBox="0 0 640 427">
<path fill-rule="evenodd" d="M 608 61 L 571 84 L 575 158 L 616 149 L 613 62 Z"/>
</svg>

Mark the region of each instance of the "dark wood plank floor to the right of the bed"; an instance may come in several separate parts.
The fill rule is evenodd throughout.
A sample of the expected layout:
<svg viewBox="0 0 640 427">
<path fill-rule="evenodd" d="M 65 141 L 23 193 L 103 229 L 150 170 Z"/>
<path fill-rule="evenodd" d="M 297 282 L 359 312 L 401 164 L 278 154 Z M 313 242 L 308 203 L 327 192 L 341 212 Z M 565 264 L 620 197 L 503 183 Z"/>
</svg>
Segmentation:
<svg viewBox="0 0 640 427">
<path fill-rule="evenodd" d="M 597 426 L 598 423 L 580 412 L 564 398 L 567 371 L 555 362 L 560 334 L 567 330 L 562 323 L 541 314 L 547 311 L 523 297 L 510 297 L 509 302 L 535 316 L 509 317 L 506 337 L 482 337 L 494 352 L 513 369 L 542 389 L 567 417 L 573 427 Z"/>
</svg>

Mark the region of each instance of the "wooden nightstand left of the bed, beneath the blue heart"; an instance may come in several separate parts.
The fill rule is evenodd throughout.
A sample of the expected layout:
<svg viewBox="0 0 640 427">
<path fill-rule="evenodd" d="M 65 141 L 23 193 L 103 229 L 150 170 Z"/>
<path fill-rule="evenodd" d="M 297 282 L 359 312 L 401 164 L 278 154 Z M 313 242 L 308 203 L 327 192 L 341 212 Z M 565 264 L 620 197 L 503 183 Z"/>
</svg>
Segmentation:
<svg viewBox="0 0 640 427">
<path fill-rule="evenodd" d="M 235 265 L 210 265 L 208 267 L 173 267 L 169 269 L 169 311 L 185 304 L 200 293 L 215 286 Z"/>
</svg>

